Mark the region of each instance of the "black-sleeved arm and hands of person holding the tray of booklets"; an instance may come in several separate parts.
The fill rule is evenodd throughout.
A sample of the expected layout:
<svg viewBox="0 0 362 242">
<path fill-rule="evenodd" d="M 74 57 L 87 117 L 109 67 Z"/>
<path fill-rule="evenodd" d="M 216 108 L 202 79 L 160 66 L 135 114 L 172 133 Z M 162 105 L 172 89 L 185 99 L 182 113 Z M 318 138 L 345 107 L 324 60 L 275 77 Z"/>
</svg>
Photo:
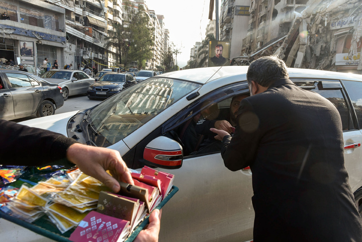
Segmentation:
<svg viewBox="0 0 362 242">
<path fill-rule="evenodd" d="M 31 128 L 0 119 L 0 147 L 2 165 L 73 167 L 104 183 L 113 192 L 120 191 L 122 180 L 134 185 L 120 153 L 116 150 L 77 143 L 72 138 L 48 130 Z M 22 152 L 19 152 L 19 147 Z M 43 153 L 44 150 L 48 152 Z M 6 152 L 5 152 L 6 151 Z M 39 155 L 43 153 L 43 155 Z M 113 178 L 106 171 L 115 176 Z M 155 209 L 149 217 L 148 227 L 141 230 L 134 241 L 158 241 L 161 213 Z"/>
</svg>

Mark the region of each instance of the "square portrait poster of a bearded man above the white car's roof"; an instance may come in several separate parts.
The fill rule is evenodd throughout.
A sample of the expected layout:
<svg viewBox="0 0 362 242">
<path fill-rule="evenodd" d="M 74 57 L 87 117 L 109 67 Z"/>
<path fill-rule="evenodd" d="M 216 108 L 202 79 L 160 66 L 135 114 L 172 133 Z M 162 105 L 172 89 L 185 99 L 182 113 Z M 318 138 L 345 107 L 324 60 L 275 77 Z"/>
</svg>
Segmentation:
<svg viewBox="0 0 362 242">
<path fill-rule="evenodd" d="M 230 65 L 230 42 L 211 40 L 209 42 L 208 66 Z"/>
</svg>

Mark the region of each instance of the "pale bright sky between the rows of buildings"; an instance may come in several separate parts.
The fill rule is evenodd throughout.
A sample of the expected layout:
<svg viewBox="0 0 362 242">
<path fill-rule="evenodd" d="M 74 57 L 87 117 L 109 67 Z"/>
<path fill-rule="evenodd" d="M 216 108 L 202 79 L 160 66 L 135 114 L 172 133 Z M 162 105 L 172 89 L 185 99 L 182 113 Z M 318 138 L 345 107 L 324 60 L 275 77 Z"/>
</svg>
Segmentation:
<svg viewBox="0 0 362 242">
<path fill-rule="evenodd" d="M 165 29 L 169 30 L 170 42 L 180 49 L 177 65 L 184 67 L 190 60 L 191 48 L 195 42 L 205 39 L 209 23 L 210 0 L 145 0 L 149 10 L 164 16 Z M 219 6 L 220 8 L 220 6 Z M 215 19 L 215 13 L 213 14 Z"/>
</svg>

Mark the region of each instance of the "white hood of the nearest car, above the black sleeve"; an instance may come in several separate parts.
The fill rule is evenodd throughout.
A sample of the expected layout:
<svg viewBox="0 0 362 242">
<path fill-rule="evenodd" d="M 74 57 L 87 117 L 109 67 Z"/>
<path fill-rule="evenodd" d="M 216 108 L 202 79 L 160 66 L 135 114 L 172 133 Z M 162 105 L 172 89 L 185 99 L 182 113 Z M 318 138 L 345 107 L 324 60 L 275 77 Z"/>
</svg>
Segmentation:
<svg viewBox="0 0 362 242">
<path fill-rule="evenodd" d="M 77 112 L 79 111 L 55 114 L 41 118 L 30 119 L 19 123 L 30 127 L 47 129 L 67 136 L 67 123 L 69 119 L 73 117 Z"/>
</svg>

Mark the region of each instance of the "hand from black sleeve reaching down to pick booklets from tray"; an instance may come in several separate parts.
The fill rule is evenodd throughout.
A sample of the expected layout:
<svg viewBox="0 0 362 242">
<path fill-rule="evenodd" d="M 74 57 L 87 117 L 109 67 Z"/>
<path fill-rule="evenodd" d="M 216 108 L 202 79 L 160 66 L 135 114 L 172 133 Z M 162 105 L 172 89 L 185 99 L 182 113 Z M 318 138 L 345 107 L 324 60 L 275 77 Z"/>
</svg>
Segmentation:
<svg viewBox="0 0 362 242">
<path fill-rule="evenodd" d="M 84 174 L 96 178 L 115 193 L 120 191 L 118 181 L 134 185 L 131 173 L 117 150 L 75 143 L 69 146 L 66 157 Z"/>
</svg>

